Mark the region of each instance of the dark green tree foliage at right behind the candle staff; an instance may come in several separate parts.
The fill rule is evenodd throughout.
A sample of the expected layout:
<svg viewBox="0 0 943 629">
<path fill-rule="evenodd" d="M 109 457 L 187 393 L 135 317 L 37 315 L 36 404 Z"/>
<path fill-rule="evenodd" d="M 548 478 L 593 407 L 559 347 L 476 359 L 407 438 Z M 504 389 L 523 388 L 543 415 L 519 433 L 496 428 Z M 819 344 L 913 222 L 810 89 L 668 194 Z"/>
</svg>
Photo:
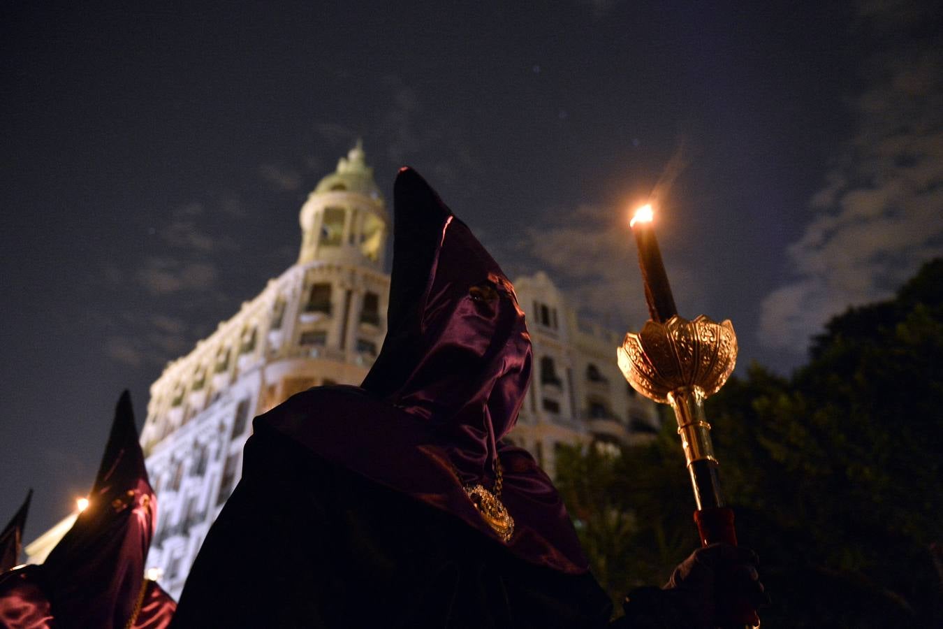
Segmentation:
<svg viewBox="0 0 943 629">
<path fill-rule="evenodd" d="M 943 621 L 943 259 L 851 308 L 791 377 L 753 366 L 706 403 L 741 543 L 763 557 L 772 626 Z M 697 543 L 673 418 L 618 457 L 570 451 L 558 485 L 614 598 Z"/>
</svg>

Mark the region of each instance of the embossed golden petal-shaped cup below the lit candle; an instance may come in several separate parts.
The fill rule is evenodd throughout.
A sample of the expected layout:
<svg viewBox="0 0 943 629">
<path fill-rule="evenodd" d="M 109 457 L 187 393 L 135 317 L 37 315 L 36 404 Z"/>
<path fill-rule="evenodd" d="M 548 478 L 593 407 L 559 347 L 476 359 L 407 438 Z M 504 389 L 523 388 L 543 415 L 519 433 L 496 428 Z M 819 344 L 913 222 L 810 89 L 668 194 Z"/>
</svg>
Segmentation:
<svg viewBox="0 0 943 629">
<path fill-rule="evenodd" d="M 667 404 L 674 389 L 716 393 L 736 365 L 736 334 L 730 320 L 717 323 L 700 315 L 687 321 L 675 315 L 665 323 L 649 321 L 625 335 L 619 368 L 633 389 Z"/>
</svg>

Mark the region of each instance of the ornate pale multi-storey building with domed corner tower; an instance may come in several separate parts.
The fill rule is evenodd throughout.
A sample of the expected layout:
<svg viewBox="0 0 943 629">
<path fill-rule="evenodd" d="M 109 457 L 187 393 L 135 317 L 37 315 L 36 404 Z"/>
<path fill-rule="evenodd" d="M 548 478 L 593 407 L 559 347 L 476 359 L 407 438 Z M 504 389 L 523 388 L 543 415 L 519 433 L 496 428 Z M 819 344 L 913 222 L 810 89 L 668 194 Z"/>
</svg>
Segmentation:
<svg viewBox="0 0 943 629">
<path fill-rule="evenodd" d="M 148 566 L 174 597 L 239 482 L 252 419 L 309 387 L 359 384 L 386 334 L 390 217 L 359 144 L 308 195 L 300 223 L 298 261 L 151 386 L 141 444 L 159 506 Z M 534 376 L 510 439 L 553 473 L 560 444 L 650 436 L 657 414 L 616 366 L 620 335 L 579 320 L 545 273 L 514 286 Z M 27 547 L 30 560 L 67 528 Z"/>
</svg>

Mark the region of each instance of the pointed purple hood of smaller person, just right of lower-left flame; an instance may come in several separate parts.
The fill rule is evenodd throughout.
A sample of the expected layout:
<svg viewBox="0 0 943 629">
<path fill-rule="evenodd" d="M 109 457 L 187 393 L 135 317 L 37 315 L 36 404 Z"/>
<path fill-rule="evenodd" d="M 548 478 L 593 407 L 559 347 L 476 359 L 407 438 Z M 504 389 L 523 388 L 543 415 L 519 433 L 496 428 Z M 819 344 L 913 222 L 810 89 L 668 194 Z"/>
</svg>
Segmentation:
<svg viewBox="0 0 943 629">
<path fill-rule="evenodd" d="M 89 506 L 43 564 L 58 622 L 68 627 L 124 627 L 144 585 L 156 509 L 131 396 L 124 391 Z"/>
</svg>

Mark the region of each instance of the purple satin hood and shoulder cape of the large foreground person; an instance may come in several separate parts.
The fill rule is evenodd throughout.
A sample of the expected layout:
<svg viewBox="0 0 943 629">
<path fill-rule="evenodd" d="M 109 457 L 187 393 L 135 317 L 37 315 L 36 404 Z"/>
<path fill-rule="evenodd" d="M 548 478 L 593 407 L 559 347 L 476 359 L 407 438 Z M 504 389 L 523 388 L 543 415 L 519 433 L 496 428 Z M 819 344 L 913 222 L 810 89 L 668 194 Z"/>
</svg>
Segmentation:
<svg viewBox="0 0 943 629">
<path fill-rule="evenodd" d="M 557 571 L 587 571 L 550 479 L 526 451 L 501 440 L 517 421 L 531 367 L 511 283 L 412 169 L 397 176 L 394 205 L 388 333 L 362 384 L 367 395 L 313 389 L 256 424 L 492 538 L 501 536 L 466 488 L 493 489 L 500 469 L 501 500 L 515 522 L 507 548 Z M 340 417 L 311 421 L 318 408 Z"/>
</svg>

